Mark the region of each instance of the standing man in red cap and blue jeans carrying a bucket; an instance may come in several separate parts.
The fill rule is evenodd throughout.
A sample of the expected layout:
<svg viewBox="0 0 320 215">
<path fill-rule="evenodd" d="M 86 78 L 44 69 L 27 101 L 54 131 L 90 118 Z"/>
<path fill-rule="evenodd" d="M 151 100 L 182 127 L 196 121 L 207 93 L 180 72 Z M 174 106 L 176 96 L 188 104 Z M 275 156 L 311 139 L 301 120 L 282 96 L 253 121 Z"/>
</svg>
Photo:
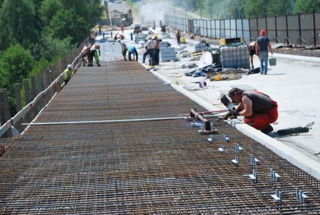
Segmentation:
<svg viewBox="0 0 320 215">
<path fill-rule="evenodd" d="M 268 70 L 268 48 L 271 54 L 273 54 L 273 52 L 270 39 L 265 35 L 265 30 L 262 29 L 260 35 L 256 40 L 255 54 L 260 57 L 260 74 L 266 74 Z"/>
</svg>

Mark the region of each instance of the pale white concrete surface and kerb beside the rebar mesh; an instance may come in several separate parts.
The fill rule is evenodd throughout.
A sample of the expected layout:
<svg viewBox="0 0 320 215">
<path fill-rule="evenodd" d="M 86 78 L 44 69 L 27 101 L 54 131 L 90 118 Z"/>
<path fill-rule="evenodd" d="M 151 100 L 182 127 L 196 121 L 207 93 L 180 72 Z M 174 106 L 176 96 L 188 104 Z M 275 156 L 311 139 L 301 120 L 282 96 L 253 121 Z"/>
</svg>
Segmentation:
<svg viewBox="0 0 320 215">
<path fill-rule="evenodd" d="M 149 30 L 152 30 L 161 38 L 160 28 L 149 28 Z M 113 31 L 113 35 L 116 32 L 120 32 L 120 29 Z M 144 48 L 141 47 L 141 44 L 134 43 L 134 37 L 133 40 L 130 40 L 130 32 L 132 30 L 125 29 L 124 41 L 127 47 L 131 45 L 137 47 L 139 63 L 141 63 Z M 109 35 L 108 33 L 105 31 L 106 36 Z M 100 38 L 102 38 L 102 34 L 98 34 L 96 40 Z M 171 47 L 177 49 L 185 46 L 183 49 L 190 52 L 194 51 L 194 44 L 198 42 L 187 39 L 187 44 L 178 46 L 172 33 L 170 38 L 163 38 L 163 41 L 170 42 Z M 109 43 L 100 43 L 100 60 L 123 60 L 118 52 L 120 49 L 113 48 L 113 53 L 104 52 L 109 48 L 106 48 L 110 46 Z M 113 46 L 119 45 L 115 42 L 111 42 L 111 44 Z M 112 57 L 110 57 L 110 54 Z M 207 79 L 207 85 L 203 88 L 199 87 L 198 81 L 205 77 L 184 75 L 196 68 L 182 68 L 182 64 L 198 64 L 199 62 L 199 60 L 191 60 L 191 57 L 179 57 L 178 61 L 167 62 L 161 62 L 160 59 L 160 65 L 156 67 L 156 71 L 151 72 L 163 79 L 164 82 L 171 83 L 172 87 L 197 101 L 208 110 L 225 109 L 219 100 L 220 91 L 228 91 L 231 86 L 248 85 L 268 94 L 273 100 L 277 101 L 279 117 L 272 124 L 274 130 L 296 126 L 303 127 L 310 122 L 314 122 L 311 126 L 312 129 L 306 133 L 278 135 L 271 132 L 269 135 L 265 135 L 246 124 L 238 123 L 238 119 L 233 122 L 229 121 L 244 134 L 261 142 L 280 156 L 320 179 L 320 155 L 315 155 L 315 153 L 320 152 L 320 112 L 317 106 L 320 99 L 317 91 L 318 79 L 320 78 L 320 58 L 284 54 L 273 54 L 273 56 L 277 60 L 276 65 L 268 66 L 267 75 L 260 75 L 259 73 L 242 74 L 241 78 L 237 80 L 210 81 Z M 124 60 L 123 63 L 125 63 Z M 259 67 L 259 60 L 256 56 L 254 56 L 253 64 L 254 67 Z M 142 65 L 148 68 L 146 64 Z M 179 85 L 174 84 L 175 81 L 178 81 Z M 239 119 L 241 120 L 241 118 Z"/>
</svg>

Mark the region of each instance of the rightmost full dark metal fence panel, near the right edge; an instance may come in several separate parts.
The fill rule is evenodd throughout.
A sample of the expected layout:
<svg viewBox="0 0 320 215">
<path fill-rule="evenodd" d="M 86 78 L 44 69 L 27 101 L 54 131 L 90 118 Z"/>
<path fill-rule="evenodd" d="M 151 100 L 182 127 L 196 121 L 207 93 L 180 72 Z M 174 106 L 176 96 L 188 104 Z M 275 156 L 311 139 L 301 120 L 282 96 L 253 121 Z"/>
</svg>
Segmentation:
<svg viewBox="0 0 320 215">
<path fill-rule="evenodd" d="M 313 43 L 313 12 L 300 14 L 300 28 L 301 28 L 301 38 L 304 41 L 302 43 L 310 45 Z"/>
</svg>

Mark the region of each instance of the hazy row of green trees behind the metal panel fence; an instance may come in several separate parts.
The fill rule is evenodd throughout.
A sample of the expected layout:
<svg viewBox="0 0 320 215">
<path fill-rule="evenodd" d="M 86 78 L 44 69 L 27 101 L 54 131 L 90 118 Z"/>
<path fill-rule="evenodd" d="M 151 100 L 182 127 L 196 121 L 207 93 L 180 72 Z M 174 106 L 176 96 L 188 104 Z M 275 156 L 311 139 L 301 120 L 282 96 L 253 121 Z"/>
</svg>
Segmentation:
<svg viewBox="0 0 320 215">
<path fill-rule="evenodd" d="M 292 0 L 174 0 L 173 4 L 210 19 L 238 18 L 238 8 L 240 18 L 292 14 Z M 320 0 L 293 0 L 293 13 L 313 11 L 320 11 Z"/>
</svg>

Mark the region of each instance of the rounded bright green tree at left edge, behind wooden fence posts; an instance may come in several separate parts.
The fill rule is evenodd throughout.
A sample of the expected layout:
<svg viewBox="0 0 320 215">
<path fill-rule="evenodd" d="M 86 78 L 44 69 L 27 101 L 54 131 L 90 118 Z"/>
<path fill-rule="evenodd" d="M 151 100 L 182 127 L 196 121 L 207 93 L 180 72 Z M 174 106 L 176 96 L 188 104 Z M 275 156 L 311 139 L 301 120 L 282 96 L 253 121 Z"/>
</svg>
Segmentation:
<svg viewBox="0 0 320 215">
<path fill-rule="evenodd" d="M 8 90 L 10 113 L 16 113 L 14 83 L 22 83 L 33 67 L 33 57 L 20 44 L 9 46 L 0 58 L 0 88 Z"/>
</svg>

